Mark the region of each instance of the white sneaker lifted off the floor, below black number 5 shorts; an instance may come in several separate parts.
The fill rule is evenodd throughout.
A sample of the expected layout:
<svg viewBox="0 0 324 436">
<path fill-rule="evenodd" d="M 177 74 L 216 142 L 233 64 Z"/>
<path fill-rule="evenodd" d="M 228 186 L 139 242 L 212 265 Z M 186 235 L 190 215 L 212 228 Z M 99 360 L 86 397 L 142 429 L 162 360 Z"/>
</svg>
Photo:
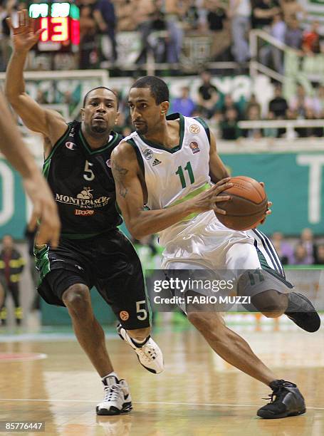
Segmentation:
<svg viewBox="0 0 324 436">
<path fill-rule="evenodd" d="M 150 371 L 150 373 L 160 374 L 164 370 L 163 355 L 160 347 L 153 341 L 149 336 L 147 341 L 143 345 L 136 345 L 132 338 L 128 335 L 125 328 L 118 324 L 117 332 L 123 341 L 127 342 L 128 345 L 135 350 L 140 364 L 144 366 L 145 369 Z"/>
</svg>

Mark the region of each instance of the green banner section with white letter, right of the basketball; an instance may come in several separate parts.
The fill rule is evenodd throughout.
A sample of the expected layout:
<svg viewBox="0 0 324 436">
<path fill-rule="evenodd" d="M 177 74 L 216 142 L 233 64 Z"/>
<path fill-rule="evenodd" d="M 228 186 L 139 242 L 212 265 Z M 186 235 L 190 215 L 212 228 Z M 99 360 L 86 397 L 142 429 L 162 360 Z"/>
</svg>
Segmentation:
<svg viewBox="0 0 324 436">
<path fill-rule="evenodd" d="M 221 158 L 232 175 L 266 184 L 273 206 L 262 232 L 295 236 L 310 227 L 315 234 L 324 234 L 324 152 L 223 153 Z"/>
</svg>

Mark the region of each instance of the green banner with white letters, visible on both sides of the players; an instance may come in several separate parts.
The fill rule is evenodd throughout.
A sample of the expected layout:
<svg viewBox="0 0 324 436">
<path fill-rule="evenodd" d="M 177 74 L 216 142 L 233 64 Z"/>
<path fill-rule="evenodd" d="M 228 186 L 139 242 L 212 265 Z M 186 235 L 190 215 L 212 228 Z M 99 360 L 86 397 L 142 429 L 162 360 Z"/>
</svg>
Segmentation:
<svg viewBox="0 0 324 436">
<path fill-rule="evenodd" d="M 221 154 L 232 175 L 249 175 L 265 182 L 273 202 L 262 230 L 298 235 L 305 227 L 324 234 L 324 152 Z M 19 175 L 0 160 L 0 237 L 21 239 L 30 204 Z"/>
</svg>

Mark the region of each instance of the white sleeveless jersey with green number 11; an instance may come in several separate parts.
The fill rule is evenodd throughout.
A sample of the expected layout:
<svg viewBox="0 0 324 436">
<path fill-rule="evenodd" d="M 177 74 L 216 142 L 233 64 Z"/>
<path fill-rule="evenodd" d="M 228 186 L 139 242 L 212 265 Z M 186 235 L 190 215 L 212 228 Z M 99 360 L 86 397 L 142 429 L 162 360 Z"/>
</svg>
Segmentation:
<svg viewBox="0 0 324 436">
<path fill-rule="evenodd" d="M 125 140 L 137 151 L 147 186 L 147 207 L 164 209 L 184 202 L 211 186 L 209 177 L 209 129 L 203 120 L 183 115 L 170 115 L 168 120 L 179 120 L 180 142 L 167 149 L 145 140 L 134 132 Z M 160 243 L 167 246 L 175 237 L 197 232 L 206 221 L 205 214 L 192 214 L 182 222 L 160 232 Z M 214 219 L 214 212 L 211 212 Z M 208 218 L 209 221 L 209 218 Z M 206 225 L 206 222 L 205 224 Z"/>
</svg>

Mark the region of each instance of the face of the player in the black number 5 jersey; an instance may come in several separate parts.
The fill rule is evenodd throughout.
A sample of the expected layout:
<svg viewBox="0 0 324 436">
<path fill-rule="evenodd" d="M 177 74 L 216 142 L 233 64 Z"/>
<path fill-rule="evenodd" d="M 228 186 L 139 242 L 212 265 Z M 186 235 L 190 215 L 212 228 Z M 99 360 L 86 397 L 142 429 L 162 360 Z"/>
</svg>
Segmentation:
<svg viewBox="0 0 324 436">
<path fill-rule="evenodd" d="M 82 109 L 82 121 L 90 134 L 109 134 L 118 115 L 116 95 L 104 88 L 93 90 Z"/>
</svg>

